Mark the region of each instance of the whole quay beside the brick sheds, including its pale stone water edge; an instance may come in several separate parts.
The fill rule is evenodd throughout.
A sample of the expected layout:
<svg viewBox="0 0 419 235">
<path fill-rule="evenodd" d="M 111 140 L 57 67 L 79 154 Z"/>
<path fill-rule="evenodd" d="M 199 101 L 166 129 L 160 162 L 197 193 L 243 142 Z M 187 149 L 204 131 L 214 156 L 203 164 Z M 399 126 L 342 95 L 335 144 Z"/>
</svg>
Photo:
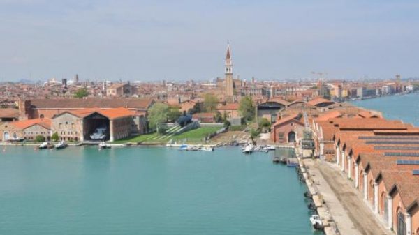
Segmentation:
<svg viewBox="0 0 419 235">
<path fill-rule="evenodd" d="M 388 235 L 358 193 L 328 162 L 299 158 L 308 191 L 313 195 L 318 215 L 323 220 L 326 235 Z M 337 186 L 336 186 L 336 185 Z"/>
</svg>

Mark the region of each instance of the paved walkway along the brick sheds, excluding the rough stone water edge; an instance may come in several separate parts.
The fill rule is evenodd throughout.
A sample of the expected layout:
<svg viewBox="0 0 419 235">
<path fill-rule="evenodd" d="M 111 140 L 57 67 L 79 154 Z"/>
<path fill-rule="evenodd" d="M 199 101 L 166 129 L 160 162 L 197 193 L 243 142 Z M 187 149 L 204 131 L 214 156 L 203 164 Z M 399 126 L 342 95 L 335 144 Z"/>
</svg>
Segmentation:
<svg viewBox="0 0 419 235">
<path fill-rule="evenodd" d="M 323 195 L 326 204 L 341 234 L 392 234 L 386 230 L 368 208 L 360 192 L 353 188 L 352 181 L 334 165 L 328 162 L 306 162 L 312 179 L 318 183 L 318 190 Z"/>
</svg>

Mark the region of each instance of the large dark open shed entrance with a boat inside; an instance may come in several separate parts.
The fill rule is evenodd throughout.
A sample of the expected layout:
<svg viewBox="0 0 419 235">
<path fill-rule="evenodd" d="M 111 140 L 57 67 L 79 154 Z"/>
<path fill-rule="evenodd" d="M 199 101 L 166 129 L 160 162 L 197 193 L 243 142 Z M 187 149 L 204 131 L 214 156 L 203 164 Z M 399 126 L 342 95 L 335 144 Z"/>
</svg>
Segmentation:
<svg viewBox="0 0 419 235">
<path fill-rule="evenodd" d="M 84 140 L 103 141 L 110 139 L 110 121 L 102 114 L 94 112 L 84 117 L 83 128 Z"/>
</svg>

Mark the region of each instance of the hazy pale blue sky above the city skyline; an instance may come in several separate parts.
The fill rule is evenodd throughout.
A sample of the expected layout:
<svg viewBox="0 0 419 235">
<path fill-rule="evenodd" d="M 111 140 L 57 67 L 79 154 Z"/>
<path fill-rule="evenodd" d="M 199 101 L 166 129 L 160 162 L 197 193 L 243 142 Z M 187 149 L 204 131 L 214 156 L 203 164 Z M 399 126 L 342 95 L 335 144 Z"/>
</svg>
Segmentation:
<svg viewBox="0 0 419 235">
<path fill-rule="evenodd" d="M 0 80 L 419 77 L 419 1 L 0 0 Z"/>
</svg>

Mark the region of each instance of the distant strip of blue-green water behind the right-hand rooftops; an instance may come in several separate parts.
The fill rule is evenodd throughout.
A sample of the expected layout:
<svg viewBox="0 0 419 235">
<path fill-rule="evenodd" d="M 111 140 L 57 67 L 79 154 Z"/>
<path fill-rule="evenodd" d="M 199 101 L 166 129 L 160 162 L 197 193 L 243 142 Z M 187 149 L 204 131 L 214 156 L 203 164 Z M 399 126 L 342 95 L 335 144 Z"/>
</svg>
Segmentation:
<svg viewBox="0 0 419 235">
<path fill-rule="evenodd" d="M 383 112 L 387 119 L 403 120 L 419 126 L 419 93 L 357 100 L 354 105 Z"/>
</svg>

